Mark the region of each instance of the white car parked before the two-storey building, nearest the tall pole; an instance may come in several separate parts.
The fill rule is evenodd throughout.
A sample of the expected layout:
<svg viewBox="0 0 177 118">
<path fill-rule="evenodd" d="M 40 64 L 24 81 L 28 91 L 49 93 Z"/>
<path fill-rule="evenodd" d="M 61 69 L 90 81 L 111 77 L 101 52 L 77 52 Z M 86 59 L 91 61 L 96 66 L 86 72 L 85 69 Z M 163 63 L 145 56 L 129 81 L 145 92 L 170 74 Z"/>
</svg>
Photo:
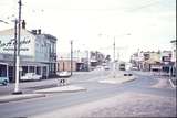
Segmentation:
<svg viewBox="0 0 177 118">
<path fill-rule="evenodd" d="M 37 75 L 34 73 L 25 73 L 24 76 L 21 76 L 21 81 L 40 81 L 42 78 L 41 75 Z"/>
</svg>

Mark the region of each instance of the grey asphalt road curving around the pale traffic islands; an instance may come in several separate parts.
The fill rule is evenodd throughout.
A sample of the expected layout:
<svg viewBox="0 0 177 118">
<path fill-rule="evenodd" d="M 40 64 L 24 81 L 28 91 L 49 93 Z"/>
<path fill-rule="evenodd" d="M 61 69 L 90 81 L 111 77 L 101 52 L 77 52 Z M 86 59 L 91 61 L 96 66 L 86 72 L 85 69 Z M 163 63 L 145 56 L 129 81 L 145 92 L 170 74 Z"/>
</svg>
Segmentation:
<svg viewBox="0 0 177 118">
<path fill-rule="evenodd" d="M 170 85 L 168 85 L 169 87 L 167 88 L 150 87 L 158 83 L 159 79 L 150 75 L 148 72 L 129 72 L 136 75 L 137 79 L 125 84 L 117 85 L 97 83 L 98 79 L 103 79 L 110 73 L 111 71 L 93 71 L 84 72 L 83 74 L 75 74 L 70 78 L 70 84 L 85 87 L 87 90 L 76 93 L 48 94 L 46 97 L 42 98 L 0 104 L 0 116 L 2 118 L 30 117 L 50 112 L 56 109 L 67 108 L 74 105 L 82 105 L 85 103 L 92 103 L 95 100 L 117 96 L 126 92 L 158 95 L 162 97 L 176 97 L 176 89 L 171 88 Z M 38 89 L 38 87 L 32 86 L 54 85 L 55 83 L 56 79 L 29 82 L 22 83 L 21 88 L 24 89 L 25 93 L 29 93 Z M 2 88 L 2 86 L 0 87 Z M 13 84 L 9 85 L 9 92 L 12 90 Z"/>
</svg>

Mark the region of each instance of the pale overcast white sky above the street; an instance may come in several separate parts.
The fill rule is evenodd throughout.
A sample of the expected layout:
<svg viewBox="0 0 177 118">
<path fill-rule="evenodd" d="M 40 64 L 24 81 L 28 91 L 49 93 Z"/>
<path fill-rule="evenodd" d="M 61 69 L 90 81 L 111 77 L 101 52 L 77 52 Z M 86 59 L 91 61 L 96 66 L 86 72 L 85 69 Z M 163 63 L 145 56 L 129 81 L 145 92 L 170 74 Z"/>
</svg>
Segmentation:
<svg viewBox="0 0 177 118">
<path fill-rule="evenodd" d="M 0 30 L 13 28 L 19 0 L 0 0 Z M 170 50 L 176 40 L 176 0 L 22 0 L 27 29 L 58 37 L 58 53 L 100 51 L 129 60 L 140 51 Z"/>
</svg>

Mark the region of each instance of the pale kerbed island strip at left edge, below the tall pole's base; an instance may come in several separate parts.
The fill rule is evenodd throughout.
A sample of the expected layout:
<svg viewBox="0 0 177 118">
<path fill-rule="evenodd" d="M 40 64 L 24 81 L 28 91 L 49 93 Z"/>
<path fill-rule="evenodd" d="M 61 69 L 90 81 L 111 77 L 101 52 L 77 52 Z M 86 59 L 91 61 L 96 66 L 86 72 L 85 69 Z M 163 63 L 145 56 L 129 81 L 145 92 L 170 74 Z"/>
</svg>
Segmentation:
<svg viewBox="0 0 177 118">
<path fill-rule="evenodd" d="M 19 94 L 19 95 L 6 95 L 0 97 L 0 103 L 17 101 L 22 99 L 31 99 L 38 97 L 45 97 L 44 94 Z"/>
</svg>

